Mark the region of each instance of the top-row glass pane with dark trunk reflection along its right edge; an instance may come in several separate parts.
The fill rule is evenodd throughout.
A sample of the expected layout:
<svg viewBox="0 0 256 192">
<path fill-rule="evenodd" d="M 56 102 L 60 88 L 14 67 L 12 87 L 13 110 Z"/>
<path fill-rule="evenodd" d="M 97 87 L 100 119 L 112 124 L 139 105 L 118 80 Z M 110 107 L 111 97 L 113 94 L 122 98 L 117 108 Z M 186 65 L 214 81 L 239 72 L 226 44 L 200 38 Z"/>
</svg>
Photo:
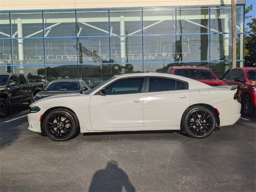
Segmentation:
<svg viewBox="0 0 256 192">
<path fill-rule="evenodd" d="M 208 7 L 180 7 L 177 13 L 177 33 L 207 33 Z"/>
</svg>

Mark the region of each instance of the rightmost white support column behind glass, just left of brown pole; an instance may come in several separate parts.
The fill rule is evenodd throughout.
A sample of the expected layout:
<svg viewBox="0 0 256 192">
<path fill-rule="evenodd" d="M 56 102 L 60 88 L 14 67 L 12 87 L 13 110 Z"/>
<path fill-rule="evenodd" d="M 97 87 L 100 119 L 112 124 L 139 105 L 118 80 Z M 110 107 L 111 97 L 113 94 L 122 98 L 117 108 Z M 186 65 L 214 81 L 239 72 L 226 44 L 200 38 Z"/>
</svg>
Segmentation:
<svg viewBox="0 0 256 192">
<path fill-rule="evenodd" d="M 226 18 L 224 19 L 224 33 L 228 33 L 228 14 L 226 14 Z M 229 35 L 230 34 L 224 34 L 224 60 L 229 59 Z M 231 64 L 228 61 L 224 62 L 224 72 L 226 72 L 229 68 L 231 68 Z"/>
</svg>

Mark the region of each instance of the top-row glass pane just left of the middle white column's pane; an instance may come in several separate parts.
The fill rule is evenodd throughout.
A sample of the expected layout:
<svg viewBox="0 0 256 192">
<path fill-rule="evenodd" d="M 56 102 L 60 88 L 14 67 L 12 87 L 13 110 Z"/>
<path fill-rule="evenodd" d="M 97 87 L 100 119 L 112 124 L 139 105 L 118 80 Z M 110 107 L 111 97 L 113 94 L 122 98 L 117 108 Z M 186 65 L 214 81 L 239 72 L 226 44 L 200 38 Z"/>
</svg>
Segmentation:
<svg viewBox="0 0 256 192">
<path fill-rule="evenodd" d="M 109 35 L 108 10 L 77 11 L 78 36 Z"/>
</svg>

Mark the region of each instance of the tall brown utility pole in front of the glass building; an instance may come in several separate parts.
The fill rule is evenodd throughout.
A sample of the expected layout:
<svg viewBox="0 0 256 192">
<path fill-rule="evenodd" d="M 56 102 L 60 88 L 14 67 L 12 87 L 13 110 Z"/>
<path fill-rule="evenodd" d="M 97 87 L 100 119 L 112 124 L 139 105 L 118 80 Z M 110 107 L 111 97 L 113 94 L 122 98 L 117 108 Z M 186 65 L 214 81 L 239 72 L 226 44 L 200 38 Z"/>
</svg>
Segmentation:
<svg viewBox="0 0 256 192">
<path fill-rule="evenodd" d="M 231 0 L 232 12 L 232 67 L 236 67 L 236 0 Z"/>
</svg>

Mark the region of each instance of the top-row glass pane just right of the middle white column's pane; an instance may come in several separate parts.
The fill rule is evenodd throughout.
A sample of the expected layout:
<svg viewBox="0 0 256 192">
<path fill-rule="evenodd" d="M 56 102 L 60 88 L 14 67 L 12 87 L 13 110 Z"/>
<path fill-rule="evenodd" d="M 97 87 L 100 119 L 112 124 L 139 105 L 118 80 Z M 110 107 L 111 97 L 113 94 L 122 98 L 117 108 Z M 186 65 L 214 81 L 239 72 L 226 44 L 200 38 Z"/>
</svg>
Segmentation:
<svg viewBox="0 0 256 192">
<path fill-rule="evenodd" d="M 175 8 L 143 8 L 143 34 L 175 34 Z"/>
</svg>

